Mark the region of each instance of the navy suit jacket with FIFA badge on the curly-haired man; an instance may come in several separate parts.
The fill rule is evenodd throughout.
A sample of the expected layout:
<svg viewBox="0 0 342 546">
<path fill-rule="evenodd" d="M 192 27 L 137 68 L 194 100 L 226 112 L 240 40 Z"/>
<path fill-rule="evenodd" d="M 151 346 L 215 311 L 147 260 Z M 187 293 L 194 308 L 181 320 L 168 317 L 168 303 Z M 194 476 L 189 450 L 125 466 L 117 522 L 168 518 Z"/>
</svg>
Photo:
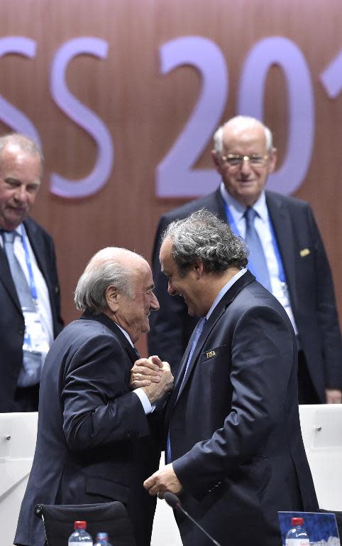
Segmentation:
<svg viewBox="0 0 342 546">
<path fill-rule="evenodd" d="M 182 382 L 190 347 L 165 419 L 182 505 L 222 546 L 278 546 L 277 510 L 318 508 L 292 325 L 246 272 L 209 317 Z M 184 546 L 209 546 L 182 515 L 178 524 Z"/>
</svg>

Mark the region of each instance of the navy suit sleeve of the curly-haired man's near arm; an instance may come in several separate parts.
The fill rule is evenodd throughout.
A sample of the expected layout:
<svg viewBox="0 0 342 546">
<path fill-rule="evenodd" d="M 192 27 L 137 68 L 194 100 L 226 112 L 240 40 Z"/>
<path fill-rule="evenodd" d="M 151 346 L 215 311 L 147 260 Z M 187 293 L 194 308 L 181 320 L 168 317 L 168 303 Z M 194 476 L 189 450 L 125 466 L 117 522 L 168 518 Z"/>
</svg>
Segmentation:
<svg viewBox="0 0 342 546">
<path fill-rule="evenodd" d="M 230 342 L 227 339 L 227 351 Z M 282 419 L 290 378 L 297 374 L 294 334 L 277 311 L 254 307 L 238 320 L 226 355 L 232 401 L 222 427 L 172 465 L 182 486 L 202 498 L 263 449 Z M 191 388 L 191 387 L 190 387 Z M 296 392 L 294 392 L 294 397 Z M 284 431 L 286 434 L 286 431 Z"/>
</svg>

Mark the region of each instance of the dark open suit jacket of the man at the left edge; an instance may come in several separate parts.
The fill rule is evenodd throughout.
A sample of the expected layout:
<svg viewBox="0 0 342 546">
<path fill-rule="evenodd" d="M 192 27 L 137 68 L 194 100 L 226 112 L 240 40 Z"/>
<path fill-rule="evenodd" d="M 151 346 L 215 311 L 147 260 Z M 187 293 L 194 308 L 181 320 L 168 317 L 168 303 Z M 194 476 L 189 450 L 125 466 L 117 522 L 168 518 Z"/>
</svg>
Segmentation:
<svg viewBox="0 0 342 546">
<path fill-rule="evenodd" d="M 60 285 L 57 277 L 55 247 L 53 239 L 34 220 L 24 222 L 28 239 L 43 273 L 53 315 L 54 336 L 62 330 L 60 316 Z M 16 294 L 6 254 L 0 247 L 0 412 L 16 411 L 14 394 L 18 374 L 23 363 L 23 334 L 25 323 L 21 305 Z"/>
</svg>

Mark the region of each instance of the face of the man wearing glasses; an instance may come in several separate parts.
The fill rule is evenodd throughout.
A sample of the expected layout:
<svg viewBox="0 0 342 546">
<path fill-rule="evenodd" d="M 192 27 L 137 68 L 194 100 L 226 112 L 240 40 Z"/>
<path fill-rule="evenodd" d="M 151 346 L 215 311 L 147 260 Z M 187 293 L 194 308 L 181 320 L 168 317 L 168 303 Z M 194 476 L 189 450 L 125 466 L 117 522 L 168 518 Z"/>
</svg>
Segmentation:
<svg viewBox="0 0 342 546">
<path fill-rule="evenodd" d="M 267 176 L 274 171 L 277 160 L 276 149 L 267 150 L 263 125 L 255 122 L 249 126 L 227 124 L 224 127 L 222 156 L 266 156 L 263 164 L 253 166 L 248 159 L 239 166 L 231 166 L 213 153 L 217 171 L 221 174 L 226 190 L 239 203 L 251 206 L 260 197 Z"/>
</svg>

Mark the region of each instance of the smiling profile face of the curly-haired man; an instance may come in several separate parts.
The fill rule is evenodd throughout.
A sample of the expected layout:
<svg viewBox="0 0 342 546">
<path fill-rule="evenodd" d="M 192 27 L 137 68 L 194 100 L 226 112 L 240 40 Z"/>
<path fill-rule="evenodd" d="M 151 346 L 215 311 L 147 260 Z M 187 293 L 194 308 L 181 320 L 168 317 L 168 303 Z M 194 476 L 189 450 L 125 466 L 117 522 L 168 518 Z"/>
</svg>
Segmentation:
<svg viewBox="0 0 342 546">
<path fill-rule="evenodd" d="M 184 277 L 180 275 L 175 259 L 172 257 L 172 240 L 170 238 L 166 238 L 162 242 L 159 259 L 162 273 L 167 277 L 167 292 L 170 296 L 177 296 L 177 294 L 182 296 L 190 316 L 204 316 L 208 309 L 202 304 L 200 266 L 195 264 Z"/>
</svg>

